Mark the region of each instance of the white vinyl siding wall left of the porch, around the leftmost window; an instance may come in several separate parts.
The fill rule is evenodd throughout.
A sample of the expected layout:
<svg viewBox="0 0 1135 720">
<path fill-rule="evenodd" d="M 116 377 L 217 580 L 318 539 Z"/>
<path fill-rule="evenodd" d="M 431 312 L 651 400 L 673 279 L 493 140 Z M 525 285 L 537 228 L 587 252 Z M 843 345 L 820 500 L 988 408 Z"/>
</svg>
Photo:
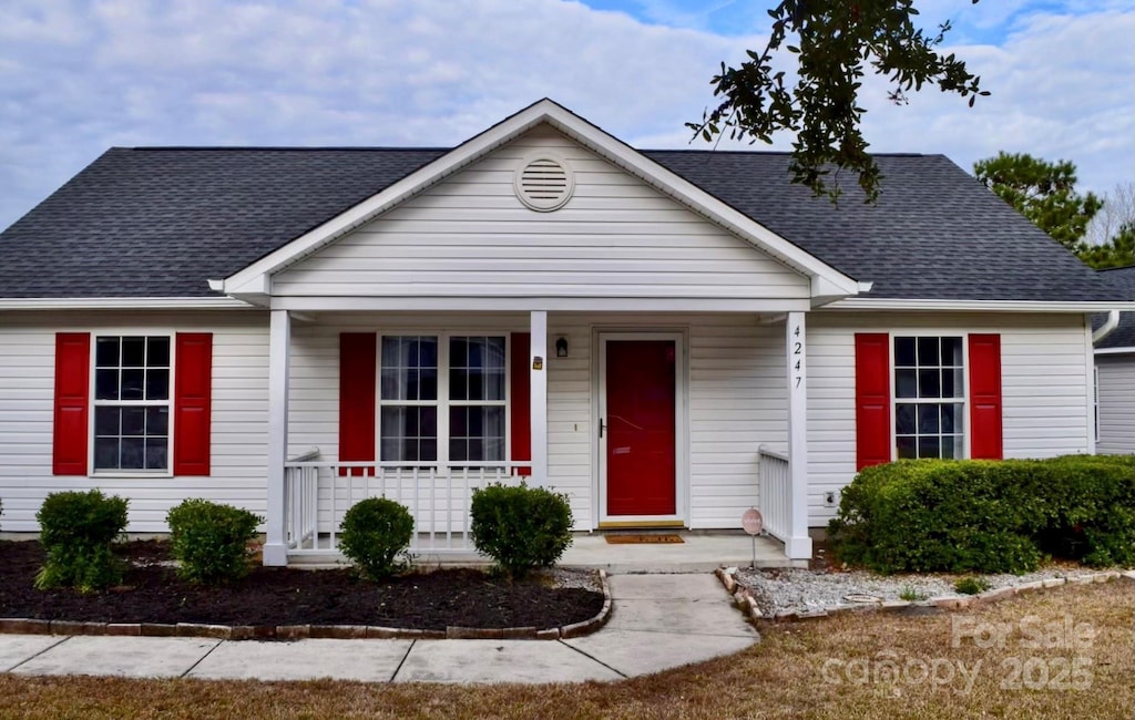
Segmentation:
<svg viewBox="0 0 1135 720">
<path fill-rule="evenodd" d="M 114 332 L 137 327 L 211 332 L 212 475 L 98 477 L 51 474 L 57 332 Z M 92 347 L 93 351 L 93 347 Z M 91 406 L 93 407 L 93 405 Z M 6 314 L 0 323 L 0 530 L 34 532 L 48 493 L 100 488 L 129 500 L 128 532 L 166 532 L 166 513 L 185 498 L 266 510 L 268 323 L 255 311 L 212 313 Z"/>
</svg>

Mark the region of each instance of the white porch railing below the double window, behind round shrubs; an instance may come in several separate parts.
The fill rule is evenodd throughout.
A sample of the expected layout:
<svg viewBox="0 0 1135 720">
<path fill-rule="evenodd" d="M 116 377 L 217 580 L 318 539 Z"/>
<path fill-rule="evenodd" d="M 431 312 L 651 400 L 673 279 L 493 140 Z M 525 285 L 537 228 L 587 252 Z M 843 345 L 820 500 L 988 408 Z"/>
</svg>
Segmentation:
<svg viewBox="0 0 1135 720">
<path fill-rule="evenodd" d="M 518 471 L 531 463 L 491 465 L 419 463 L 284 464 L 284 537 L 289 556 L 338 553 L 339 524 L 365 498 L 388 498 L 410 510 L 410 552 L 469 552 L 470 502 L 474 488 L 520 484 Z"/>
</svg>

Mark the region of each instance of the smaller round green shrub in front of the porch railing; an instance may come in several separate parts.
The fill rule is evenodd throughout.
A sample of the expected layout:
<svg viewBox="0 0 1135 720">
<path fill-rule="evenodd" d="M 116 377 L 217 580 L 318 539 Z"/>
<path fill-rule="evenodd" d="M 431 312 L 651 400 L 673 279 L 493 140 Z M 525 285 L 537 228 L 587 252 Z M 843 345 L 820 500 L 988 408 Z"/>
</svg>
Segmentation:
<svg viewBox="0 0 1135 720">
<path fill-rule="evenodd" d="M 339 525 L 339 550 L 359 571 L 381 581 L 409 565 L 398 560 L 414 532 L 414 518 L 405 506 L 386 498 L 368 498 L 344 514 Z"/>
</svg>

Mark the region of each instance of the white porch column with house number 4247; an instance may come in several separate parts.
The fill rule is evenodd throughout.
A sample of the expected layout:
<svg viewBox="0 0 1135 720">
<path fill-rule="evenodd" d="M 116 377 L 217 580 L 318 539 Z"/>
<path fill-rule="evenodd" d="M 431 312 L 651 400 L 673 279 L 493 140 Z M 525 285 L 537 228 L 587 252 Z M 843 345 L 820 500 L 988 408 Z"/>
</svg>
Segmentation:
<svg viewBox="0 0 1135 720">
<path fill-rule="evenodd" d="M 808 536 L 808 341 L 805 313 L 789 313 L 784 323 L 788 353 L 788 458 L 791 475 L 789 537 L 784 552 L 790 560 L 812 557 Z"/>
</svg>

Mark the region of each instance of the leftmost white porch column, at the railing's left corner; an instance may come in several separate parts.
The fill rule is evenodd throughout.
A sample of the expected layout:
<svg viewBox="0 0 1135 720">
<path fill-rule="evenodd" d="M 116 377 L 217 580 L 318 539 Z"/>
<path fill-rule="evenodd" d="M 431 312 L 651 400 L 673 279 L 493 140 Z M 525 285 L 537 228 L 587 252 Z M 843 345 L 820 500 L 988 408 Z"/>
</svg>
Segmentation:
<svg viewBox="0 0 1135 720">
<path fill-rule="evenodd" d="M 271 311 L 268 334 L 268 537 L 264 565 L 287 565 L 284 537 L 284 463 L 287 460 L 288 355 L 292 319 L 286 310 Z"/>
</svg>

